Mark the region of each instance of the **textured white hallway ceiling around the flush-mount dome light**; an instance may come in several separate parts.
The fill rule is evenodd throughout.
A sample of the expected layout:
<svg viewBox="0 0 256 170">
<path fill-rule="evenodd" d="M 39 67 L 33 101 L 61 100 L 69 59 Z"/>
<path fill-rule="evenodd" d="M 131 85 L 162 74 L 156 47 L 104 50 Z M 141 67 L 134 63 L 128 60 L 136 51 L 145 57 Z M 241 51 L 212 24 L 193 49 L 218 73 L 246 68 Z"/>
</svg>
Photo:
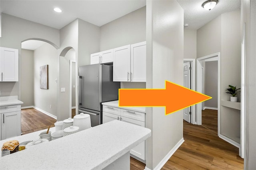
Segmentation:
<svg viewBox="0 0 256 170">
<path fill-rule="evenodd" d="M 241 0 L 218 0 L 218 4 L 210 11 L 202 8 L 206 0 L 177 0 L 184 9 L 184 24 L 189 24 L 186 29 L 197 30 L 220 14 L 237 10 Z"/>
</svg>

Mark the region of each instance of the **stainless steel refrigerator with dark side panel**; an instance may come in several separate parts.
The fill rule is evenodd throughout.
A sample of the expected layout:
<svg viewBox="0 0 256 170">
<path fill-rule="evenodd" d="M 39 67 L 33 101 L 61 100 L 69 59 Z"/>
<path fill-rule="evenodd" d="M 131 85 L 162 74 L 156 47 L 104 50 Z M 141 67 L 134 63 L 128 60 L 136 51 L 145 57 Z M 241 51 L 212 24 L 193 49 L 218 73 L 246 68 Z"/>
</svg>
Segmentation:
<svg viewBox="0 0 256 170">
<path fill-rule="evenodd" d="M 118 100 L 120 82 L 113 82 L 113 66 L 79 67 L 79 113 L 90 114 L 91 125 L 102 124 L 102 102 Z"/>
</svg>

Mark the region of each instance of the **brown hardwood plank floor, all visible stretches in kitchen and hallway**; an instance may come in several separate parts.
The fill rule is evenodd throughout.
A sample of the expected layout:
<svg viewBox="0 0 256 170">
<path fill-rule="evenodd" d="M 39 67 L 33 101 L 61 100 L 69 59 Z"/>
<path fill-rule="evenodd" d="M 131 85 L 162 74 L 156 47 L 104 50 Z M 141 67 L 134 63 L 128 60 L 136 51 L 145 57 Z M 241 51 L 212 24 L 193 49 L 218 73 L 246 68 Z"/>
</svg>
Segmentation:
<svg viewBox="0 0 256 170">
<path fill-rule="evenodd" d="M 184 121 L 185 142 L 162 167 L 162 170 L 242 170 L 244 160 L 238 148 L 218 138 L 216 111 L 202 113 L 203 126 Z M 56 120 L 34 108 L 22 109 L 23 134 L 53 127 Z M 215 114 L 215 116 L 214 116 Z M 207 121 L 204 121 L 207 120 Z M 214 123 L 215 122 L 215 123 Z M 144 170 L 145 164 L 130 157 L 130 170 Z"/>
</svg>

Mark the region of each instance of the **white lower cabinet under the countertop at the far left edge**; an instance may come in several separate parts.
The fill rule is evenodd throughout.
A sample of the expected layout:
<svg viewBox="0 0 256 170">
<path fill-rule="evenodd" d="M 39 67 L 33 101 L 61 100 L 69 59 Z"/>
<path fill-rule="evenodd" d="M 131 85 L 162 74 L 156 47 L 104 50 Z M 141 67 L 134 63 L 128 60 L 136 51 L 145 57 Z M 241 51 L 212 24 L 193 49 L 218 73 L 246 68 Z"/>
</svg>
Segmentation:
<svg viewBox="0 0 256 170">
<path fill-rule="evenodd" d="M 21 133 L 20 105 L 0 106 L 1 140 L 19 136 Z"/>
</svg>

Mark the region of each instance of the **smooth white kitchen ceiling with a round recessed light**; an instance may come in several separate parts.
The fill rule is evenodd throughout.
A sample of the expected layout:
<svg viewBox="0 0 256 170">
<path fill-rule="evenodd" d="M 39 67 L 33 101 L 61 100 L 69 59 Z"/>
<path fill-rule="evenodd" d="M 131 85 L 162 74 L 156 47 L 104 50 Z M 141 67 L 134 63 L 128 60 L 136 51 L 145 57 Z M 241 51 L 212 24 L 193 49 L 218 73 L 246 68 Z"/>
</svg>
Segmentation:
<svg viewBox="0 0 256 170">
<path fill-rule="evenodd" d="M 76 18 L 102 26 L 146 5 L 146 0 L 0 0 L 0 12 L 60 29 Z M 54 12 L 60 8 L 62 13 Z"/>
</svg>

